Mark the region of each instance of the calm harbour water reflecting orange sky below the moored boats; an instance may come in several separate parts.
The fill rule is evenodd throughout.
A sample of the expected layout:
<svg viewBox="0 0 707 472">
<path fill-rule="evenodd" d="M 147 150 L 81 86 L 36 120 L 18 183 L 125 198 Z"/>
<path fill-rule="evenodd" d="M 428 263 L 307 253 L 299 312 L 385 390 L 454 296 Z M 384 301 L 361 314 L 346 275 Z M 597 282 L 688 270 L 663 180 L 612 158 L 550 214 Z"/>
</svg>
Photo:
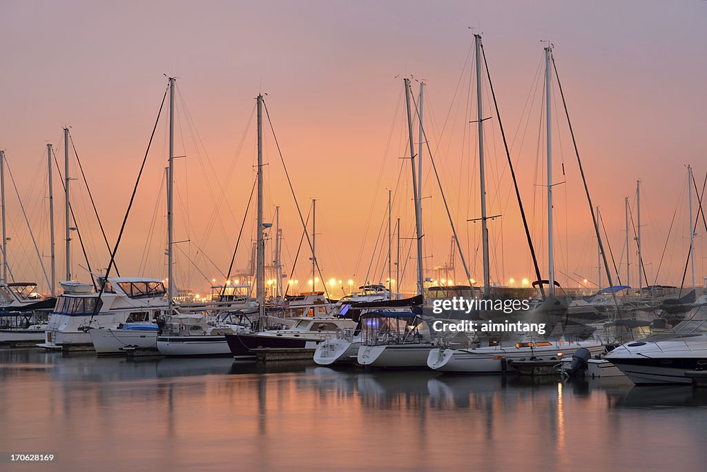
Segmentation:
<svg viewBox="0 0 707 472">
<path fill-rule="evenodd" d="M 707 391 L 0 350 L 0 470 L 707 468 Z"/>
</svg>

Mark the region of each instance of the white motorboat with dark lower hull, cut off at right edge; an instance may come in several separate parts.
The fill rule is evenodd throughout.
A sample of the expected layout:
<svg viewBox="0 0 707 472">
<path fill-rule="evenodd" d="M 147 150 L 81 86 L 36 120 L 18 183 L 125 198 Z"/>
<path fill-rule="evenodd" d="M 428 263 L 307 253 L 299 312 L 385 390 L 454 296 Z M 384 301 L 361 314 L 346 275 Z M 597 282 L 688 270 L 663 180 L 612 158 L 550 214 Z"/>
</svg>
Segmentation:
<svg viewBox="0 0 707 472">
<path fill-rule="evenodd" d="M 636 385 L 691 384 L 686 372 L 707 369 L 707 305 L 672 330 L 624 343 L 605 359 Z"/>
</svg>

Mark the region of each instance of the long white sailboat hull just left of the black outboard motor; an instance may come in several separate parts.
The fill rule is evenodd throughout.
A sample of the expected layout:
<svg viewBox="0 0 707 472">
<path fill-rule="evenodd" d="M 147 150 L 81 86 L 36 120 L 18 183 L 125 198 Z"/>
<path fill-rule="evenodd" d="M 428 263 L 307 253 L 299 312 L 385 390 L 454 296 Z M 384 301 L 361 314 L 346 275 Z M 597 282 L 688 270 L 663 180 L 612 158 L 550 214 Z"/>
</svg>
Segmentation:
<svg viewBox="0 0 707 472">
<path fill-rule="evenodd" d="M 515 348 L 513 346 L 493 346 L 489 348 L 472 349 L 433 349 L 427 358 L 427 366 L 439 372 L 455 372 L 460 374 L 502 374 L 517 372 L 513 360 L 530 359 L 531 357 L 562 357 L 571 356 L 579 348 L 590 350 L 592 355 L 604 352 L 601 343 L 585 341 L 578 343 L 553 343 L 552 346 L 535 348 Z"/>
</svg>

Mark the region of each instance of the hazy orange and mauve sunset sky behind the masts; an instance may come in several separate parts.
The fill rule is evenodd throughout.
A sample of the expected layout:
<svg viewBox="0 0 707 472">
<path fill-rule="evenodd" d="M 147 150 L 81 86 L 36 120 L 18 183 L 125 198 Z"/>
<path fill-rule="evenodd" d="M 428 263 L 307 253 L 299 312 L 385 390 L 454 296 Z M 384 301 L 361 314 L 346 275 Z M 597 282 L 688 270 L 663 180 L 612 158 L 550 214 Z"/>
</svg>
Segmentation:
<svg viewBox="0 0 707 472">
<path fill-rule="evenodd" d="M 426 83 L 423 126 L 471 276 L 479 281 L 479 223 L 467 220 L 480 216 L 477 129 L 469 124 L 476 119 L 469 51 L 473 33 L 481 32 L 547 277 L 541 61 L 542 41 L 549 40 L 592 200 L 601 208 L 617 266 L 622 254 L 626 258 L 624 197 L 633 206 L 641 179 L 645 272 L 650 283 L 658 274 L 658 283 L 679 285 L 689 245 L 686 165 L 693 166 L 700 189 L 707 172 L 706 24 L 704 1 L 4 0 L 0 148 L 47 270 L 46 145 L 54 146 L 63 173 L 64 125 L 71 126 L 108 240 L 115 244 L 165 75 L 177 77 L 175 153 L 186 156 L 175 164 L 175 239 L 185 241 L 175 249 L 177 285 L 204 293 L 212 278 L 222 282 L 228 271 L 255 176 L 255 97 L 267 94 L 304 218 L 311 199 L 317 199 L 323 278 L 335 278 L 337 285 L 349 279 L 363 283 L 367 274 L 372 282 L 385 281 L 387 189 L 393 189 L 394 224 L 401 218 L 401 267 L 407 261 L 402 287 L 414 290 L 414 259 L 408 259 L 414 257 L 411 177 L 409 160 L 401 159 L 409 155 L 402 78 L 411 76 L 415 100 L 419 81 Z M 485 79 L 483 85 L 485 114 L 491 117 L 484 123 L 489 215 L 502 215 L 489 222 L 491 279 L 508 284 L 513 278 L 520 285 L 523 278 L 534 280 L 532 264 Z M 554 93 L 554 175 L 555 182 L 566 181 L 554 193 L 556 277 L 563 285 L 583 278 L 592 285 L 596 240 L 556 83 Z M 117 254 L 124 276 L 166 276 L 167 111 L 165 104 Z M 265 220 L 274 221 L 274 206 L 281 207 L 289 274 L 302 225 L 267 118 L 264 128 Z M 417 142 L 416 124 L 414 129 Z M 449 259 L 452 232 L 429 155 L 423 155 L 426 276 L 460 282 L 465 276 L 458 254 L 455 271 L 434 270 Z M 79 176 L 71 182 L 77 224 L 91 268 L 105 268 L 107 249 L 78 172 L 72 160 L 71 174 Z M 63 280 L 64 198 L 54 176 L 57 278 Z M 46 291 L 8 175 L 6 200 L 13 276 L 38 281 Z M 245 218 L 239 271 L 247 268 L 255 238 L 254 206 Z M 696 211 L 696 196 L 693 206 Z M 701 220 L 696 232 L 696 283 L 702 285 L 707 252 Z M 395 247 L 394 240 L 393 259 Z M 631 264 L 635 249 L 632 242 Z M 86 262 L 77 237 L 73 252 L 76 278 L 88 281 L 78 267 Z M 305 240 L 292 277 L 302 289 L 310 278 L 309 257 Z M 625 273 L 621 265 L 623 282 Z M 633 270 L 631 285 L 636 279 Z M 341 295 L 339 288 L 329 290 Z"/>
</svg>

